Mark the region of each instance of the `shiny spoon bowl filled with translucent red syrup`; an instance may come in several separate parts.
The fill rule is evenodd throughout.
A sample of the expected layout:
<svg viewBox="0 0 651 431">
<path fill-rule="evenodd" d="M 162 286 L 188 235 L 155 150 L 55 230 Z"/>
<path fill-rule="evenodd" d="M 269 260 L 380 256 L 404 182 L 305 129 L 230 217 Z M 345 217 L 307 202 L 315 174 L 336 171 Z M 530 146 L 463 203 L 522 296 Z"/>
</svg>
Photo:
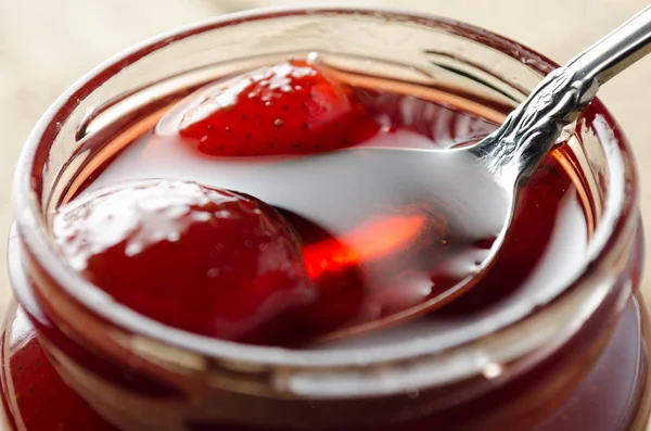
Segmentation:
<svg viewBox="0 0 651 431">
<path fill-rule="evenodd" d="M 363 267 L 371 279 L 372 287 L 366 287 L 370 297 L 353 325 L 326 339 L 398 324 L 471 289 L 494 262 L 502 232 L 508 232 L 512 198 L 469 149 L 363 148 L 322 153 L 271 164 L 240 177 L 238 186 L 273 205 L 301 232 L 336 232 L 322 237 L 336 238 L 359 255 L 361 262 L 334 264 Z M 419 204 L 414 207 L 413 202 Z M 304 237 L 304 241 L 308 269 L 315 258 L 317 266 L 336 259 L 329 255 L 337 251 L 328 248 L 315 255 L 328 240 Z M 412 252 L 412 248 L 426 251 Z M 407 277 L 394 281 L 396 274 L 405 271 Z M 312 278 L 319 282 L 319 275 Z M 386 293 L 392 290 L 416 293 Z M 413 300 L 404 305 L 396 296 Z M 376 308 L 384 314 L 378 316 Z"/>
</svg>

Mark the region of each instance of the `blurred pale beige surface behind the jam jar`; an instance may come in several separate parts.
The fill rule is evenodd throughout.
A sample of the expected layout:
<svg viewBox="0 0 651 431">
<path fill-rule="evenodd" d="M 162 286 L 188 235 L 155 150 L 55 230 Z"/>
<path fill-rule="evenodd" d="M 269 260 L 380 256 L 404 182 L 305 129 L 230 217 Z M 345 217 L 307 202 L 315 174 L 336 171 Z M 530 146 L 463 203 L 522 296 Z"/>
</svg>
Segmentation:
<svg viewBox="0 0 651 431">
<path fill-rule="evenodd" d="M 310 1 L 296 1 L 308 4 Z M 327 3 L 327 1 L 319 1 Z M 559 63 L 596 41 L 644 0 L 340 0 L 399 7 L 465 21 L 519 40 Z M 12 220 L 14 164 L 31 126 L 76 78 L 107 56 L 175 26 L 265 5 L 272 0 L 0 0 L 0 243 Z M 651 56 L 600 92 L 633 142 L 641 205 L 651 225 Z M 0 245 L 0 309 L 11 297 Z M 651 299 L 651 257 L 643 289 Z"/>
</svg>

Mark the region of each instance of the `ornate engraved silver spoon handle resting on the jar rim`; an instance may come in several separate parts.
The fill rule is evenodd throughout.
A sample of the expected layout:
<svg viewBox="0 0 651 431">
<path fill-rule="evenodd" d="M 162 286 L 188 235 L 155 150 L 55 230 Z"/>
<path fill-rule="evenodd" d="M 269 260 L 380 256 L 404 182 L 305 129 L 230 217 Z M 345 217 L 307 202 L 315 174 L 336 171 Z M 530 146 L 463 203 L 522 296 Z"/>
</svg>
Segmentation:
<svg viewBox="0 0 651 431">
<path fill-rule="evenodd" d="M 502 126 L 471 151 L 506 188 L 527 177 L 599 87 L 651 52 L 651 5 L 551 72 Z"/>
</svg>

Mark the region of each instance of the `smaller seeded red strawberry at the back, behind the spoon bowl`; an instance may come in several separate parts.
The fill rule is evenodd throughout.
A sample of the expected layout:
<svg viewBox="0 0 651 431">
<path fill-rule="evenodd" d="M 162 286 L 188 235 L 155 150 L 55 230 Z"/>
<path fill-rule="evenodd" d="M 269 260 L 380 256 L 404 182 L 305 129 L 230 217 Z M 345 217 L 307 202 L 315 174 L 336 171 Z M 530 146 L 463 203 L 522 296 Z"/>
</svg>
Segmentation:
<svg viewBox="0 0 651 431">
<path fill-rule="evenodd" d="M 316 63 L 292 60 L 214 84 L 158 124 L 215 156 L 310 154 L 360 143 L 380 126 L 352 89 Z"/>
</svg>

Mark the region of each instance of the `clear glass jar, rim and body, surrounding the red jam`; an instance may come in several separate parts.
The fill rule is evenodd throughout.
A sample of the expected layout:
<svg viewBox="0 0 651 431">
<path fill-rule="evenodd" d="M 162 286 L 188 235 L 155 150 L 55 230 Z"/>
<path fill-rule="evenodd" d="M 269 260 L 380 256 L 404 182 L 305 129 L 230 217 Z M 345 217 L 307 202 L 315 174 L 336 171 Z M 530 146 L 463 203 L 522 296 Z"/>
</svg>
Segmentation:
<svg viewBox="0 0 651 431">
<path fill-rule="evenodd" d="M 636 172 L 599 100 L 565 145 L 586 202 L 585 256 L 562 282 L 520 292 L 445 334 L 333 351 L 241 345 L 140 316 L 62 263 L 51 214 L 105 159 L 88 140 L 115 132 L 106 118 L 142 115 L 143 101 L 216 74 L 311 51 L 481 101 L 486 112 L 515 106 L 556 67 L 456 21 L 346 9 L 220 16 L 100 65 L 39 121 L 17 167 L 9 244 L 17 303 L 2 338 L 8 422 L 21 431 L 643 430 L 651 404 Z"/>
</svg>

